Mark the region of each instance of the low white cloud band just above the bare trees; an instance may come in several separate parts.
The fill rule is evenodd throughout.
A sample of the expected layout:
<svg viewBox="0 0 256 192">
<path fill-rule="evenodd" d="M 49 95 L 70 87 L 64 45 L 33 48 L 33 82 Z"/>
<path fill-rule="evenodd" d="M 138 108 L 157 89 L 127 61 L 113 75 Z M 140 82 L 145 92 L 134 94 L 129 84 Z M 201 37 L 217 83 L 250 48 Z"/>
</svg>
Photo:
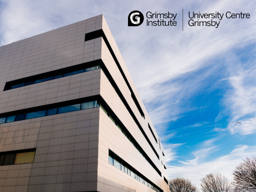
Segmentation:
<svg viewBox="0 0 256 192">
<path fill-rule="evenodd" d="M 232 170 L 236 168 L 242 159 L 255 155 L 256 146 L 238 145 L 228 155 L 220 156 L 214 160 L 201 162 L 198 164 L 188 164 L 182 166 L 168 166 L 169 178 L 184 177 L 200 187 L 200 179 L 206 174 L 219 172 L 232 180 Z"/>
</svg>

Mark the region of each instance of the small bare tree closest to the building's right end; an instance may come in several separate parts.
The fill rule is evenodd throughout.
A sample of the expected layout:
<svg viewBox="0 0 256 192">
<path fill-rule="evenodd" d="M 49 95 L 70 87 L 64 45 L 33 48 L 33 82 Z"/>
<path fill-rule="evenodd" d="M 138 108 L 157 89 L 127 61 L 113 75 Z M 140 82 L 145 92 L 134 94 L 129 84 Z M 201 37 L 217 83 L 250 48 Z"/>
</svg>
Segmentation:
<svg viewBox="0 0 256 192">
<path fill-rule="evenodd" d="M 185 178 L 174 178 L 169 180 L 170 192 L 198 192 L 196 186 L 193 186 L 190 180 Z"/>
</svg>

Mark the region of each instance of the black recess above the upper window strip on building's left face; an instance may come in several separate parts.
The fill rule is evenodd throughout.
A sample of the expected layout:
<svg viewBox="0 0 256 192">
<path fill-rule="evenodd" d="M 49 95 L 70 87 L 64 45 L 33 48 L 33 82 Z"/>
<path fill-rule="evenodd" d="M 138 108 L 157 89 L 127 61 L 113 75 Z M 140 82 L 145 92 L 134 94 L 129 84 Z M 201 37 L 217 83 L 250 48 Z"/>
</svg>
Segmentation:
<svg viewBox="0 0 256 192">
<path fill-rule="evenodd" d="M 96 66 L 97 64 L 98 64 L 98 61 L 96 60 L 96 61 L 86 62 L 86 63 L 82 63 L 82 64 L 78 64 L 78 65 L 74 65 L 74 66 L 70 66 L 70 67 L 66 67 L 66 68 L 62 68 L 62 69 L 57 69 L 57 70 L 50 71 L 50 72 L 45 72 L 45 73 L 38 74 L 38 75 L 33 75 L 33 76 L 9 81 L 9 82 L 6 82 L 6 84 L 4 86 L 4 91 L 12 89 L 12 86 L 14 86 L 14 85 L 28 83 L 28 82 L 34 82 L 35 80 L 58 76 L 61 74 L 74 72 L 74 71 L 81 70 L 84 68 L 90 68 L 92 66 Z M 34 83 L 32 83 L 32 84 L 34 84 Z"/>
</svg>

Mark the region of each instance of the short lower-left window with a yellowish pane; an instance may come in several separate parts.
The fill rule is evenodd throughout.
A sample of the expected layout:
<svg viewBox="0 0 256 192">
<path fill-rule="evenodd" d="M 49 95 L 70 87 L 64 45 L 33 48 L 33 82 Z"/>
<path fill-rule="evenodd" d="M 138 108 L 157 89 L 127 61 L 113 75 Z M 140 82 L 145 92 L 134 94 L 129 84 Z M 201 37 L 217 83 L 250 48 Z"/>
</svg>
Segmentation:
<svg viewBox="0 0 256 192">
<path fill-rule="evenodd" d="M 8 151 L 0 153 L 0 166 L 33 163 L 36 149 Z"/>
</svg>

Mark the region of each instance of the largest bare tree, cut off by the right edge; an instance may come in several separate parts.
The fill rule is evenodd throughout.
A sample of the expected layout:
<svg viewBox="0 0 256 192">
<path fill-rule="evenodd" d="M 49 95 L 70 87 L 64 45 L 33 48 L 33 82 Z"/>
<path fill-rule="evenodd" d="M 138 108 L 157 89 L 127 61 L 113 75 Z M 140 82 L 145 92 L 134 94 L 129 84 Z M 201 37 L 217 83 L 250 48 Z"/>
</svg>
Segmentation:
<svg viewBox="0 0 256 192">
<path fill-rule="evenodd" d="M 244 162 L 233 170 L 236 192 L 256 191 L 256 157 L 246 157 Z"/>
</svg>

